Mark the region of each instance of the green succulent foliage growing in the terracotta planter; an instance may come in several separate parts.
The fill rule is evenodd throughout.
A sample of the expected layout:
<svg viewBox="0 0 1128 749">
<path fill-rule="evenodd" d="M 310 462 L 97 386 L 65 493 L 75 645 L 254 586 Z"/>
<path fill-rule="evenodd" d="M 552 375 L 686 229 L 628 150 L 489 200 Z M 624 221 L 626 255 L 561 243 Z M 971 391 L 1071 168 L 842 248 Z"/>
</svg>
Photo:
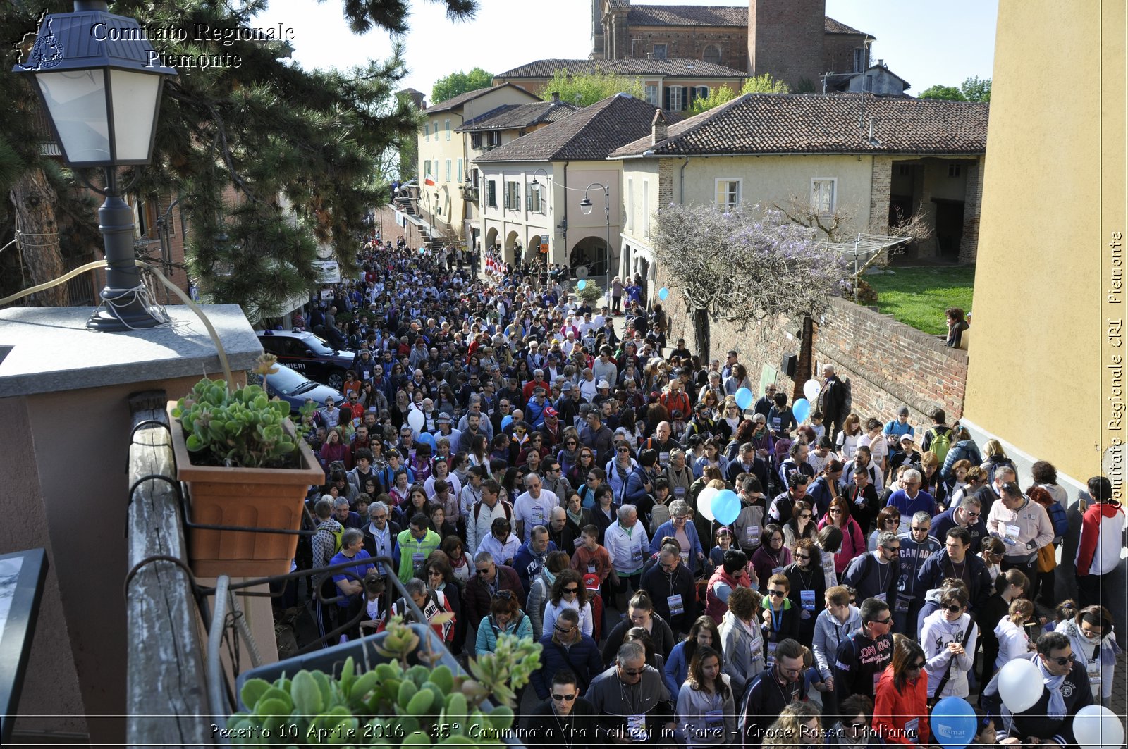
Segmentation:
<svg viewBox="0 0 1128 749">
<path fill-rule="evenodd" d="M 276 372 L 276 356 L 264 354 L 254 370 Z M 307 404 L 308 407 L 308 404 Z M 302 412 L 302 416 L 307 414 Z M 173 417 L 184 429 L 185 444 L 196 465 L 287 468 L 297 465 L 298 442 L 283 426 L 290 404 L 270 398 L 258 385 L 229 391 L 222 381 L 204 378 L 180 398 Z"/>
</svg>

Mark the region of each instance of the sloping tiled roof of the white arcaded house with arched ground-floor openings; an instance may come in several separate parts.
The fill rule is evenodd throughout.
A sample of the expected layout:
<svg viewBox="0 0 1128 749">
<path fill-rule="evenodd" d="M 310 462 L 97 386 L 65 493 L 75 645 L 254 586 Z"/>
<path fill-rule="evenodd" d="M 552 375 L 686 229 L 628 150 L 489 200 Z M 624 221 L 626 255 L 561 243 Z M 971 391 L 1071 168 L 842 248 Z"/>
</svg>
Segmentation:
<svg viewBox="0 0 1128 749">
<path fill-rule="evenodd" d="M 650 138 L 658 107 L 626 94 L 609 96 L 590 107 L 510 141 L 475 161 L 562 161 L 605 159 L 636 138 Z"/>
</svg>

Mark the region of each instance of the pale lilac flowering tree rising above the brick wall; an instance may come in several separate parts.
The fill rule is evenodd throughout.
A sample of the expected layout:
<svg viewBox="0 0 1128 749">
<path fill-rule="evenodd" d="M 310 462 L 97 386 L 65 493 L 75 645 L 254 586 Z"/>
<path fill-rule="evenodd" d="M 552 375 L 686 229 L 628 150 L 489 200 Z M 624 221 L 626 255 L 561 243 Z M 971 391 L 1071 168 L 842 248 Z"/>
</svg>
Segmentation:
<svg viewBox="0 0 1128 749">
<path fill-rule="evenodd" d="M 702 356 L 713 319 L 746 331 L 786 315 L 807 329 L 830 297 L 849 290 L 845 259 L 778 210 L 671 203 L 659 210 L 651 238 L 686 301 Z"/>
</svg>

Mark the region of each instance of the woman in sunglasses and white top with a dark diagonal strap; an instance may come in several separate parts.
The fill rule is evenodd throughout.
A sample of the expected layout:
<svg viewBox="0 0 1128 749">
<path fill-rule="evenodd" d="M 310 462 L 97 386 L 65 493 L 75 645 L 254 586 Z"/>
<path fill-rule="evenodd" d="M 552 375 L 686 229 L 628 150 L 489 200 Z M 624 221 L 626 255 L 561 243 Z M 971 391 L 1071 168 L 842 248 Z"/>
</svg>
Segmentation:
<svg viewBox="0 0 1128 749">
<path fill-rule="evenodd" d="M 970 694 L 968 673 L 975 662 L 978 637 L 979 627 L 968 614 L 967 591 L 950 588 L 941 593 L 940 610 L 925 617 L 920 627 L 931 699 Z"/>
</svg>

